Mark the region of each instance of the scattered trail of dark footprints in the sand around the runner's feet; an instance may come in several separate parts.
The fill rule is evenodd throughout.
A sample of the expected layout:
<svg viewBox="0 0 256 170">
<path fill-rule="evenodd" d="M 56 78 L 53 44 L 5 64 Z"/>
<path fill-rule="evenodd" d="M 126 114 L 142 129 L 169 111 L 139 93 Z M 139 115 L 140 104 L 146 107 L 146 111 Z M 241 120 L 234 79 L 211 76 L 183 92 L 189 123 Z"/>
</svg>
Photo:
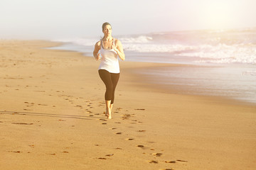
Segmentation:
<svg viewBox="0 0 256 170">
<path fill-rule="evenodd" d="M 60 91 L 56 91 L 57 93 L 60 93 Z M 52 96 L 52 95 L 50 95 Z M 79 97 L 79 98 L 75 98 L 74 96 L 67 96 L 67 95 L 59 95 L 59 97 L 62 97 L 63 100 L 65 101 L 68 101 L 70 103 L 70 105 L 73 105 L 74 107 L 76 108 L 80 108 L 82 109 L 82 111 L 85 111 L 89 117 L 94 117 L 95 115 L 99 116 L 99 117 L 102 117 L 103 118 L 98 118 L 96 120 L 99 120 L 101 125 L 107 125 L 107 118 L 105 117 L 105 112 L 104 113 L 95 113 L 95 111 L 93 111 L 93 108 L 96 106 L 94 104 L 94 101 L 93 100 L 87 100 L 85 101 L 84 98 L 82 97 Z M 83 103 L 83 105 L 79 105 L 79 104 L 76 104 L 79 100 L 82 100 L 80 101 L 79 103 Z M 29 108 L 33 107 L 33 106 L 48 106 L 46 104 L 40 104 L 40 103 L 33 103 L 33 102 L 28 102 L 28 101 L 25 101 L 24 102 L 26 104 L 26 108 L 24 108 L 23 110 L 24 111 L 31 111 Z M 85 108 L 84 108 L 85 106 Z M 53 105 L 52 107 L 55 107 L 55 105 Z M 102 109 L 105 109 L 105 102 L 100 102 L 98 103 L 98 105 L 96 107 L 101 107 Z M 134 111 L 146 111 L 146 109 L 144 108 L 137 108 L 137 109 L 134 109 Z M 111 124 L 113 125 L 113 123 L 115 125 L 119 125 L 119 124 L 122 124 L 122 121 L 127 121 L 129 120 L 131 123 L 130 124 L 137 124 L 137 123 L 142 123 L 142 121 L 139 121 L 139 120 L 136 120 L 134 118 L 136 118 L 135 114 L 129 114 L 127 113 L 128 111 L 124 111 L 122 108 L 116 108 L 114 111 L 113 111 L 113 116 L 114 118 L 110 121 Z M 122 115 L 120 113 L 123 113 Z M 119 118 L 117 116 L 120 116 Z M 121 121 L 118 121 L 118 120 L 121 120 Z M 59 121 L 65 121 L 65 120 L 59 120 Z M 16 125 L 33 125 L 33 123 L 13 123 L 13 124 L 16 124 Z M 114 130 L 114 131 L 117 131 L 117 132 L 114 132 L 115 135 L 124 135 L 122 132 L 119 132 L 117 128 L 109 128 L 110 130 Z M 146 132 L 146 130 L 137 130 L 137 132 Z M 132 138 L 132 137 L 128 137 L 126 139 L 127 142 L 128 141 L 136 141 L 136 139 Z M 154 143 L 154 142 L 152 142 Z M 30 147 L 35 147 L 34 145 L 29 145 Z M 95 145 L 95 146 L 100 146 L 100 145 Z M 152 148 L 149 148 L 149 147 L 146 147 L 145 145 L 134 145 L 134 147 L 137 147 L 137 148 L 140 148 L 142 150 L 147 150 L 149 149 L 150 151 L 154 151 L 154 149 Z M 65 148 L 65 149 L 68 149 L 68 148 Z M 114 149 L 122 149 L 122 148 L 114 148 Z M 13 152 L 13 153 L 22 153 L 21 151 L 10 151 L 10 152 Z M 30 153 L 30 152 L 28 152 Z M 63 154 L 68 154 L 69 152 L 64 150 L 62 152 Z M 55 153 L 49 153 L 50 155 L 55 155 Z M 146 154 L 145 152 L 142 152 L 142 154 Z M 151 154 L 151 156 L 154 158 L 152 160 L 149 160 L 149 161 L 146 161 L 148 162 L 149 164 L 159 164 L 160 162 L 157 160 L 157 157 L 161 157 L 164 153 L 160 153 L 160 152 L 156 152 L 156 153 L 153 153 Z M 97 159 L 102 159 L 102 160 L 105 160 L 105 159 L 110 159 L 110 157 L 113 157 L 114 154 L 106 154 L 105 157 L 98 157 Z M 171 160 L 171 161 L 161 161 L 161 163 L 166 163 L 166 164 L 176 164 L 178 162 L 183 162 L 183 163 L 186 163 L 187 161 L 184 161 L 184 160 L 180 160 L 180 159 L 177 159 L 177 160 Z M 166 169 L 167 170 L 167 169 Z"/>
</svg>

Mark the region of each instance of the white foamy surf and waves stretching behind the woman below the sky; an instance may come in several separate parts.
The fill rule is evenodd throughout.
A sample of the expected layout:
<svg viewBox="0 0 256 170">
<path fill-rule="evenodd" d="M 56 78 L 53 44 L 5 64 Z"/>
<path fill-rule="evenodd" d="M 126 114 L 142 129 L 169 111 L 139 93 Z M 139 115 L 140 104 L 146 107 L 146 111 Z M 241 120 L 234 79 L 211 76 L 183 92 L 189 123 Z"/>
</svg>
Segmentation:
<svg viewBox="0 0 256 170">
<path fill-rule="evenodd" d="M 133 54 L 169 53 L 169 57 L 193 58 L 193 62 L 256 64 L 256 28 L 240 30 L 195 30 L 146 35 L 122 35 L 124 51 Z M 56 40 L 91 47 L 100 38 Z M 91 50 L 92 50 L 91 49 Z M 146 55 L 144 55 L 146 56 Z M 156 61 L 158 59 L 156 58 Z M 166 59 L 167 60 L 167 59 Z M 167 61 L 166 61 L 167 62 Z"/>
</svg>

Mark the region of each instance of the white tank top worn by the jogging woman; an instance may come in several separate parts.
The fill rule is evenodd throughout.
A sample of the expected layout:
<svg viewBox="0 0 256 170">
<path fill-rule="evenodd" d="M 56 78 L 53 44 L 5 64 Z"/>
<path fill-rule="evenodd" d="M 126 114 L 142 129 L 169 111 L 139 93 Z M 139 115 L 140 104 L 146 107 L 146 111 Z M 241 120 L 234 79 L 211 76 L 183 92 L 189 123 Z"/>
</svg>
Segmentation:
<svg viewBox="0 0 256 170">
<path fill-rule="evenodd" d="M 119 62 L 117 52 L 114 49 L 105 49 L 103 42 L 100 42 L 100 55 L 102 56 L 99 69 L 105 69 L 110 73 L 119 73 Z M 114 45 L 114 38 L 113 38 Z"/>
</svg>

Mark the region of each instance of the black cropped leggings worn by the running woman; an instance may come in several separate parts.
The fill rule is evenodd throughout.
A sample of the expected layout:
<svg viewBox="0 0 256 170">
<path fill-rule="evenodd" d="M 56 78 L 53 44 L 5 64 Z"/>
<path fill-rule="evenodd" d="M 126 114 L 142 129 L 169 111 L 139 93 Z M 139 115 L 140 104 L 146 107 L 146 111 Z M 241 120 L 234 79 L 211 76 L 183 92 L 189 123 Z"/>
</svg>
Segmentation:
<svg viewBox="0 0 256 170">
<path fill-rule="evenodd" d="M 106 86 L 105 101 L 111 101 L 114 103 L 114 90 L 119 80 L 119 73 L 110 73 L 105 69 L 99 69 L 100 79 Z"/>
</svg>

